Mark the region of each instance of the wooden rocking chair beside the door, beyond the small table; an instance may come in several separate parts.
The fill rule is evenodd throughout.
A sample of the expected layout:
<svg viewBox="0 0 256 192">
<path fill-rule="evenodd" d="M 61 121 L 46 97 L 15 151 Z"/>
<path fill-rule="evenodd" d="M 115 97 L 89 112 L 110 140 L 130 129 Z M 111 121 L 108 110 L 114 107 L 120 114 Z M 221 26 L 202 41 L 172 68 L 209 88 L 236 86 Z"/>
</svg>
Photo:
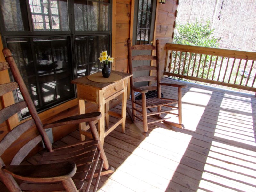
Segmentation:
<svg viewBox="0 0 256 192">
<path fill-rule="evenodd" d="M 136 55 L 132 56 L 132 51 L 136 50 L 156 50 L 156 56 L 152 55 Z M 181 88 L 187 87 L 187 85 L 178 85 L 178 84 L 168 84 L 161 83 L 160 76 L 160 61 L 159 61 L 159 40 L 156 40 L 156 46 L 153 45 L 133 45 L 131 46 L 131 40 L 128 39 L 128 59 L 129 59 L 129 70 L 132 74 L 133 72 L 138 71 L 156 71 L 156 76 L 139 76 L 139 77 L 130 77 L 131 84 L 131 97 L 132 97 L 132 113 L 128 108 L 128 114 L 131 117 L 132 121 L 135 123 L 137 120 L 143 122 L 144 132 L 148 132 L 148 124 L 156 123 L 163 121 L 169 125 L 173 125 L 179 128 L 182 128 L 182 117 L 181 117 Z M 156 60 L 156 66 L 137 66 L 134 67 L 133 60 Z M 150 73 L 149 73 L 150 74 Z M 135 86 L 135 83 L 142 81 L 157 81 L 157 86 Z M 177 99 L 169 99 L 161 97 L 161 85 L 173 86 L 178 88 L 178 98 Z M 146 99 L 146 93 L 149 91 L 157 90 L 157 97 Z M 141 99 L 135 100 L 134 92 L 141 93 Z M 178 104 L 178 106 L 176 106 Z M 154 110 L 155 108 L 155 110 Z M 164 108 L 164 110 L 163 110 Z M 178 111 L 177 113 L 173 113 L 173 110 Z M 179 123 L 166 121 L 169 118 L 161 117 L 161 114 L 173 114 L 178 116 Z M 148 116 L 156 116 L 157 120 L 148 121 Z M 142 118 L 141 118 L 142 117 Z"/>
</svg>

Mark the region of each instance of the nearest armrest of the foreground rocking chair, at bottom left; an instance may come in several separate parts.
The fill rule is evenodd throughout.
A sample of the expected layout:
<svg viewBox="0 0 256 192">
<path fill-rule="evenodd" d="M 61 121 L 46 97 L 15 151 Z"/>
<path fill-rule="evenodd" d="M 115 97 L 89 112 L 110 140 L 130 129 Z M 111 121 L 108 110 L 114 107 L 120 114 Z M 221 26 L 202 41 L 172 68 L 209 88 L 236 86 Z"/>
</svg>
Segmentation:
<svg viewBox="0 0 256 192">
<path fill-rule="evenodd" d="M 76 173 L 73 161 L 42 165 L 8 165 L 2 168 L 13 177 L 30 182 L 56 182 L 70 179 Z"/>
</svg>

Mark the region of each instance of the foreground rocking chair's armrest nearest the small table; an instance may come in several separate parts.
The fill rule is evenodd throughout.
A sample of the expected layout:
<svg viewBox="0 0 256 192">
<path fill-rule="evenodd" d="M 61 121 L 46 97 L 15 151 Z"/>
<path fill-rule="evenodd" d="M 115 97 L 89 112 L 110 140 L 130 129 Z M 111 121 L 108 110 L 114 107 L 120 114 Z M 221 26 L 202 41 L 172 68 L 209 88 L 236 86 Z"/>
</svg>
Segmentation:
<svg viewBox="0 0 256 192">
<path fill-rule="evenodd" d="M 58 121 L 45 124 L 43 126 L 44 129 L 51 128 L 51 127 L 58 127 L 61 125 L 67 125 L 67 124 L 75 124 L 75 123 L 82 123 L 82 122 L 89 122 L 89 121 L 96 121 L 100 119 L 101 117 L 100 112 L 92 112 L 92 113 L 85 113 L 81 115 L 71 116 L 64 119 L 60 119 Z"/>
</svg>

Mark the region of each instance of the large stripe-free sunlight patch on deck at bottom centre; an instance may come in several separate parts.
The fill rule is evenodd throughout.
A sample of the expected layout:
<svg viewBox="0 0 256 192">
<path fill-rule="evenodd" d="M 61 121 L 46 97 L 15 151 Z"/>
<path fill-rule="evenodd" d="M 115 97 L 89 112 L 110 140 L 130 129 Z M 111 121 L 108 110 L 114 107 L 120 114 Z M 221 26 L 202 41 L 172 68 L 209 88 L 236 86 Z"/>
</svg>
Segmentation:
<svg viewBox="0 0 256 192">
<path fill-rule="evenodd" d="M 111 191 L 125 191 L 125 187 L 134 191 L 165 191 L 192 137 L 180 134 L 182 140 L 176 140 L 172 138 L 173 134 L 176 133 L 172 130 L 154 128 L 150 136 L 141 141 L 101 189 L 104 191 L 108 188 L 109 191 L 109 182 L 114 185 L 114 180 L 123 186 L 116 184 L 117 187 L 112 186 Z M 170 146 L 175 147 L 170 149 Z"/>
</svg>

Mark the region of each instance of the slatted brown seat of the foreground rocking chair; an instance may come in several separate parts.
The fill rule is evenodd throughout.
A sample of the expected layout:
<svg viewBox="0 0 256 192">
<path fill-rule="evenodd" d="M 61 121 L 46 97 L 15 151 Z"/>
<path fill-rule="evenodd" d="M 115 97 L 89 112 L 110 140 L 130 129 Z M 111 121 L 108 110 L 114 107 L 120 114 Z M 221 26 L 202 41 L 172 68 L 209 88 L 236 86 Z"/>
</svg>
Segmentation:
<svg viewBox="0 0 256 192">
<path fill-rule="evenodd" d="M 65 146 L 65 148 L 59 150 L 55 149 L 53 152 L 44 152 L 37 164 L 58 165 L 58 163 L 61 164 L 61 162 L 74 162 L 76 165 L 76 173 L 72 176 L 72 180 L 74 181 L 77 190 L 81 190 L 84 184 L 83 180 L 87 178 L 92 164 L 94 164 L 94 161 L 96 163 L 98 162 L 98 159 L 94 159 L 97 145 L 97 140 L 91 140 L 89 142 L 81 142 L 77 146 Z M 51 178 L 52 176 L 50 175 L 49 177 Z M 55 191 L 65 190 L 61 181 L 55 183 L 33 183 L 26 180 L 20 184 L 20 188 L 24 191 L 48 191 L 49 188 L 51 188 L 51 190 L 54 189 Z"/>
</svg>

